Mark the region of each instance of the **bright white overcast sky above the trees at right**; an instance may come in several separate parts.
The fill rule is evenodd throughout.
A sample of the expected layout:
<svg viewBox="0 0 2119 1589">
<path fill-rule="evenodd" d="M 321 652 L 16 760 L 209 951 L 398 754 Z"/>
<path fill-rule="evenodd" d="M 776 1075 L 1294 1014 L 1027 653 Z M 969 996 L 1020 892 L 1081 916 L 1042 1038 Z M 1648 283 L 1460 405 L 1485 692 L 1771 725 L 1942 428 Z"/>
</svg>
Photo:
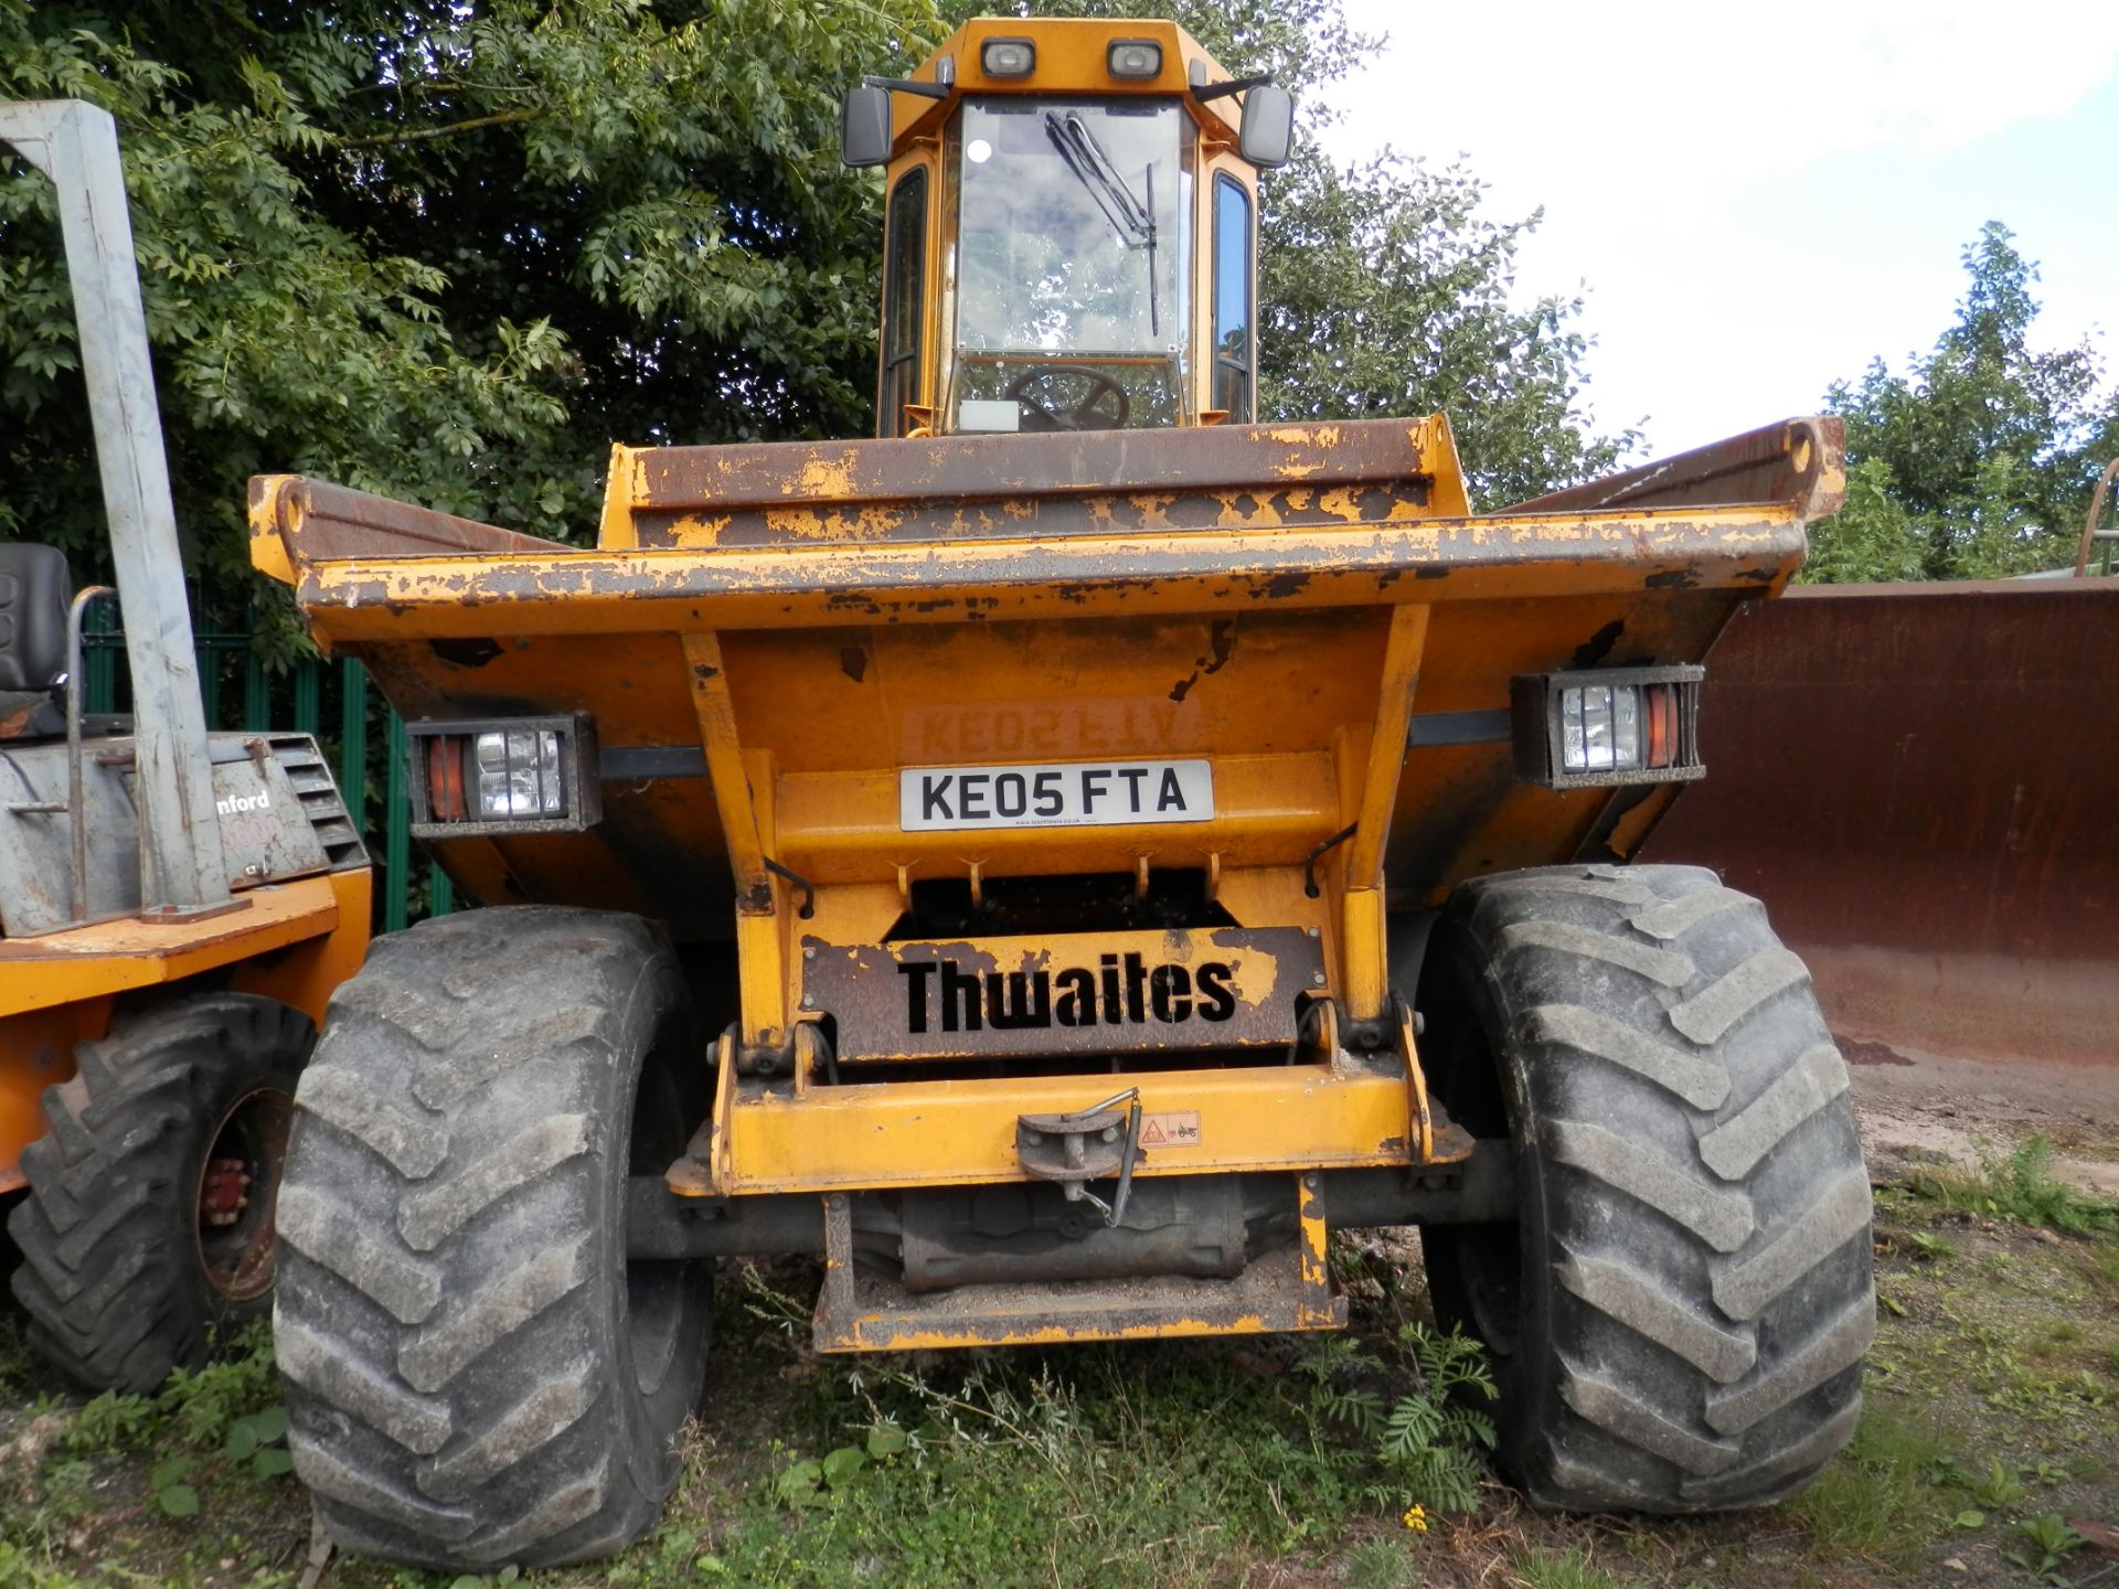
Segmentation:
<svg viewBox="0 0 2119 1589">
<path fill-rule="evenodd" d="M 1990 218 L 2043 269 L 2041 337 L 2119 362 L 2119 0 L 1346 11 L 1392 38 L 1331 148 L 1464 155 L 1492 218 L 1543 206 L 1517 288 L 1587 288 L 1596 422 L 1644 456 L 1933 345 Z"/>
</svg>

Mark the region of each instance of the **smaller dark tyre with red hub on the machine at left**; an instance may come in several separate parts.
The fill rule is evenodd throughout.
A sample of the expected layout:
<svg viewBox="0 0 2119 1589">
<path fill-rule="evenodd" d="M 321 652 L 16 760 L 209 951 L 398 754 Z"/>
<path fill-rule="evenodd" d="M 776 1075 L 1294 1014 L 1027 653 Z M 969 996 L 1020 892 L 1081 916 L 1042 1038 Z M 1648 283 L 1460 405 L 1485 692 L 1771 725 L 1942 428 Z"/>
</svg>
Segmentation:
<svg viewBox="0 0 2119 1589">
<path fill-rule="evenodd" d="M 74 1078 L 44 1089 L 8 1235 L 30 1343 L 68 1377 L 150 1392 L 271 1307 L 309 1038 L 309 1017 L 269 998 L 167 998 L 83 1042 Z"/>
</svg>

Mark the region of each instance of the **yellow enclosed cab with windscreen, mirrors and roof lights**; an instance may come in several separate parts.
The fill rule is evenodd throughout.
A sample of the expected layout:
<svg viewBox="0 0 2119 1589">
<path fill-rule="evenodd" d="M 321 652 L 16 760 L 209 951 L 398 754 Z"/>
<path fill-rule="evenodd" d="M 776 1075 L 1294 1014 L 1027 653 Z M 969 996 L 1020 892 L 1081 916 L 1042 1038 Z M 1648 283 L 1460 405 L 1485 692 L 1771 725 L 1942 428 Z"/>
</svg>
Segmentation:
<svg viewBox="0 0 2119 1589">
<path fill-rule="evenodd" d="M 1248 424 L 1286 91 L 1144 21 L 975 21 L 930 72 L 845 104 L 886 167 L 877 434 Z"/>
</svg>

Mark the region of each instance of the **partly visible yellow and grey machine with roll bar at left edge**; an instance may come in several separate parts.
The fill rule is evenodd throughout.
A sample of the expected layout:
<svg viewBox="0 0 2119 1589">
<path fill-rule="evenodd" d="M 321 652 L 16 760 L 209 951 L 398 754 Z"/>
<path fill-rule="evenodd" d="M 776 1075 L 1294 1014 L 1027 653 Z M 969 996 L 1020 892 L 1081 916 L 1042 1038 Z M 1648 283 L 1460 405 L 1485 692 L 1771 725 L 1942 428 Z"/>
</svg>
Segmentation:
<svg viewBox="0 0 2119 1589">
<path fill-rule="evenodd" d="M 0 1195 L 30 1343 L 155 1390 L 271 1307 L 295 1076 L 369 943 L 369 858 L 305 733 L 208 733 L 117 123 L 0 104 L 51 178 L 117 591 L 0 542 Z M 83 712 L 125 612 L 131 712 Z"/>
</svg>

